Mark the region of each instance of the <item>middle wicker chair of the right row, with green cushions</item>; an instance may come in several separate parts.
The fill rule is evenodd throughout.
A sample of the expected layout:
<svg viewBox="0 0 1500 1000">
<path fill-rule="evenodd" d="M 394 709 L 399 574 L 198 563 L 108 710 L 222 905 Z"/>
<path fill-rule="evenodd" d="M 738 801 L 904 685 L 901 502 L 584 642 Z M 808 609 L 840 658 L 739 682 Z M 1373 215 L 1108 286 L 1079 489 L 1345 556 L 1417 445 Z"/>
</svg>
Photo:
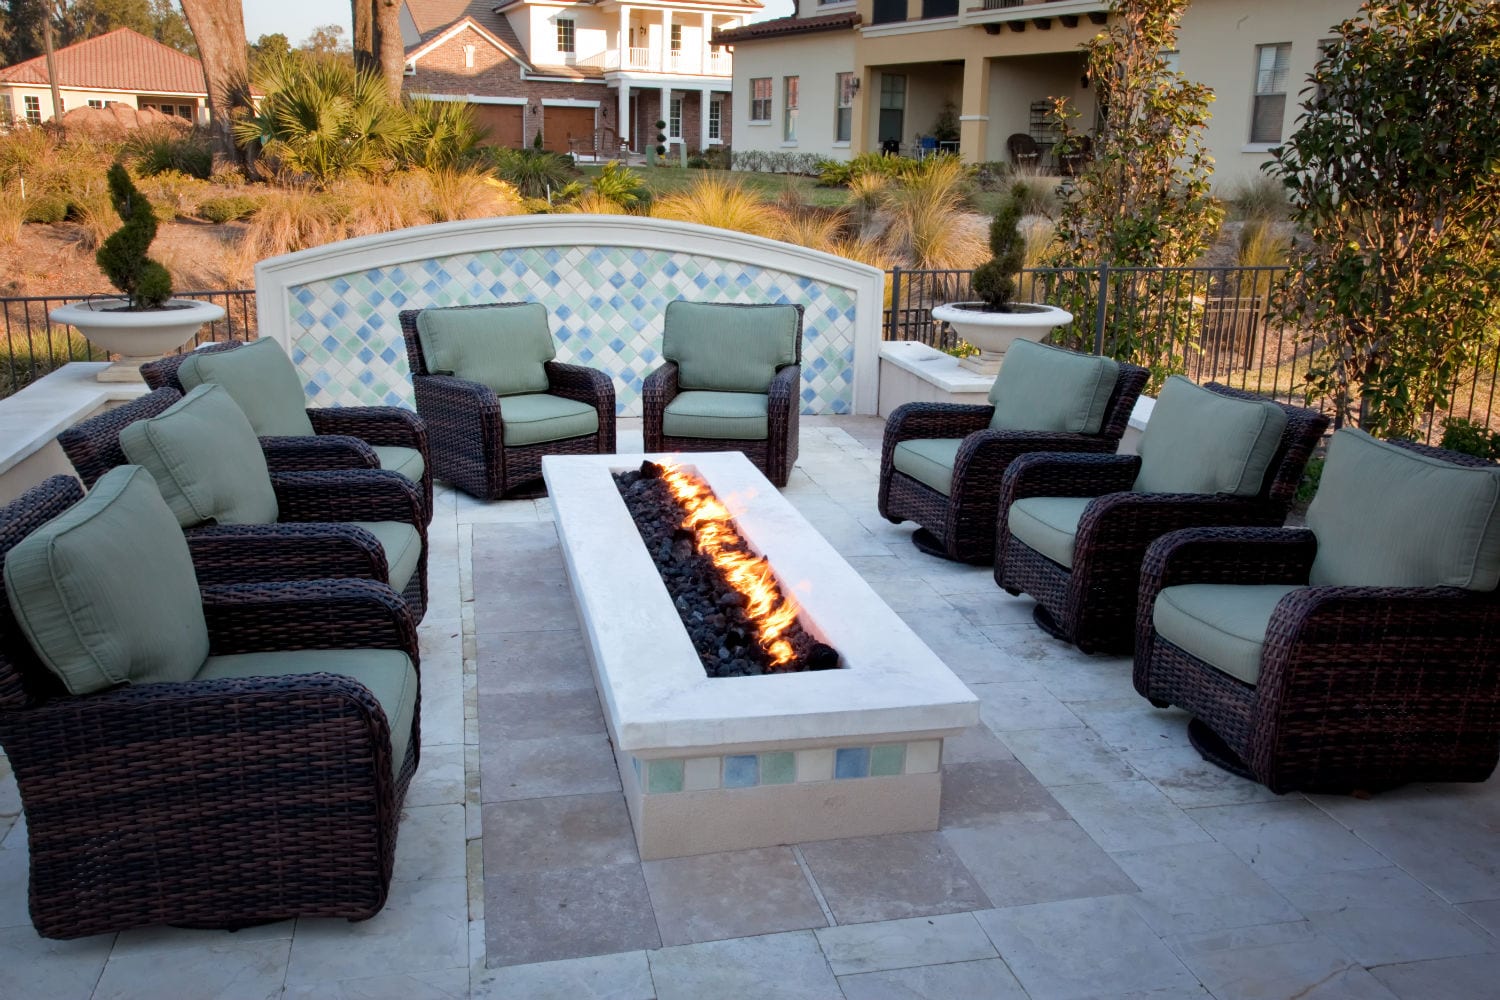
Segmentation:
<svg viewBox="0 0 1500 1000">
<path fill-rule="evenodd" d="M 994 582 L 1042 631 L 1128 652 L 1146 546 L 1178 528 L 1281 525 L 1328 417 L 1173 375 L 1140 454 L 1028 454 L 1005 471 Z"/>
</svg>

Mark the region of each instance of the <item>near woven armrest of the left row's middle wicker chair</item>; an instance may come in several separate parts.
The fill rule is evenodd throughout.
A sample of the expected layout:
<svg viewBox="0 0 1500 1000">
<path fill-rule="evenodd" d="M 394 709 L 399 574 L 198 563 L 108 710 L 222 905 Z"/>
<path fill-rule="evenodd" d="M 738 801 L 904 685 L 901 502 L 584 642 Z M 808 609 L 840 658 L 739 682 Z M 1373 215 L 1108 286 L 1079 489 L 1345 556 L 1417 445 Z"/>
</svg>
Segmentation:
<svg viewBox="0 0 1500 1000">
<path fill-rule="evenodd" d="M 390 577 L 380 541 L 354 525 L 206 525 L 188 532 L 188 549 L 200 586 Z"/>
</svg>

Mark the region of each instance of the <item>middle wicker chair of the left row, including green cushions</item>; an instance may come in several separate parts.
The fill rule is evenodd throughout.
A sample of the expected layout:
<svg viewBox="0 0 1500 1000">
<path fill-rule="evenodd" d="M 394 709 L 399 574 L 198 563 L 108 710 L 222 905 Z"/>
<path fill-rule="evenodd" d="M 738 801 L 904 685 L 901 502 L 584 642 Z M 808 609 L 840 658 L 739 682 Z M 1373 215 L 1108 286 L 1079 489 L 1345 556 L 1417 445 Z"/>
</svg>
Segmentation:
<svg viewBox="0 0 1500 1000">
<path fill-rule="evenodd" d="M 156 477 L 204 583 L 363 577 L 412 618 L 428 606 L 420 487 L 386 469 L 268 472 L 255 432 L 219 385 L 159 388 L 57 436 L 86 486 L 132 462 Z"/>
</svg>

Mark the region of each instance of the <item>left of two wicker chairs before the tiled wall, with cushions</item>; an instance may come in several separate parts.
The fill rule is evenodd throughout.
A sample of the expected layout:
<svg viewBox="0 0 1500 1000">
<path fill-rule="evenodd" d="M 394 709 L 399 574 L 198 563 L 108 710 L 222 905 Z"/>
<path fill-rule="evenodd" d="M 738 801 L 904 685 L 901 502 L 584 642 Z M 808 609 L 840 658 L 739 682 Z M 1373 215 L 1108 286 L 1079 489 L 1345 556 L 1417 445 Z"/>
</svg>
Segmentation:
<svg viewBox="0 0 1500 1000">
<path fill-rule="evenodd" d="M 540 303 L 400 313 L 440 480 L 478 499 L 543 492 L 542 456 L 612 454 L 615 385 L 556 360 Z"/>
</svg>

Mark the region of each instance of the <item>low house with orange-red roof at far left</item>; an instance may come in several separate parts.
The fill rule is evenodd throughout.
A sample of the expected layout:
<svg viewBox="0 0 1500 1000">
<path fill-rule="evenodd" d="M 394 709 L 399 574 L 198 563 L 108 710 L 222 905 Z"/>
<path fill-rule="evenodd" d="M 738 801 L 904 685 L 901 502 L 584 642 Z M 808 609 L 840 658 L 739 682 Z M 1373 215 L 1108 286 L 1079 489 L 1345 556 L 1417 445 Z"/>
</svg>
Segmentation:
<svg viewBox="0 0 1500 1000">
<path fill-rule="evenodd" d="M 0 69 L 0 121 L 42 124 L 69 108 L 123 103 L 204 123 L 208 85 L 192 55 L 116 28 L 52 52 L 63 106 L 52 108 L 46 57 Z"/>
</svg>

